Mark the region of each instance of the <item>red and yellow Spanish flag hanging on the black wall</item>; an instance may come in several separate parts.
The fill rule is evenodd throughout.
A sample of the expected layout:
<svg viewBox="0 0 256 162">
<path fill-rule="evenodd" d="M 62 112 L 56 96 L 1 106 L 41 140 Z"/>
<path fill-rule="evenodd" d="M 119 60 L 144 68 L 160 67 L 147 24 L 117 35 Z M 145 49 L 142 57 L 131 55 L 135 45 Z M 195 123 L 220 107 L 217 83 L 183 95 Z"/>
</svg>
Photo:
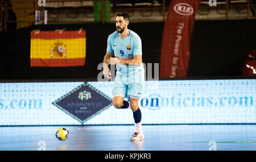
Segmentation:
<svg viewBox="0 0 256 162">
<path fill-rule="evenodd" d="M 85 65 L 85 30 L 31 31 L 30 67 Z"/>
</svg>

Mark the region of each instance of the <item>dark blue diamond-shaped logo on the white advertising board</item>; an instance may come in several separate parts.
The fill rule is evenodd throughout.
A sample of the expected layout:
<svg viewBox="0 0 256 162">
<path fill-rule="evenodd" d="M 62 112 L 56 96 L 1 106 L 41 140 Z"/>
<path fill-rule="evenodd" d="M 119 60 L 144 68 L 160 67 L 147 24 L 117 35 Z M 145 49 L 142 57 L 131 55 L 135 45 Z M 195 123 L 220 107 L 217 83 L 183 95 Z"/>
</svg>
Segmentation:
<svg viewBox="0 0 256 162">
<path fill-rule="evenodd" d="M 84 123 L 112 105 L 112 99 L 88 84 L 63 95 L 53 105 Z"/>
</svg>

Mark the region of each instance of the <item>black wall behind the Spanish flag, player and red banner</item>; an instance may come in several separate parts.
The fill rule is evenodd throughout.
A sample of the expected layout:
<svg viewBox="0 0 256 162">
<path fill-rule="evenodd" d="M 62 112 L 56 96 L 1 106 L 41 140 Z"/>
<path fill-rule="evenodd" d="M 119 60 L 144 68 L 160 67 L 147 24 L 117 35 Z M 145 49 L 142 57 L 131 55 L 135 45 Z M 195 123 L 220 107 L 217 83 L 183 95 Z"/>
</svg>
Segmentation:
<svg viewBox="0 0 256 162">
<path fill-rule="evenodd" d="M 141 36 L 143 63 L 160 63 L 164 22 L 129 24 Z M 30 32 L 57 29 L 86 31 L 85 66 L 68 68 L 30 67 Z M 255 48 L 255 20 L 196 21 L 191 41 L 188 77 L 241 76 L 246 54 Z M 0 78 L 97 78 L 114 23 L 31 26 L 0 33 Z M 210 38 L 210 39 L 209 39 Z"/>
</svg>

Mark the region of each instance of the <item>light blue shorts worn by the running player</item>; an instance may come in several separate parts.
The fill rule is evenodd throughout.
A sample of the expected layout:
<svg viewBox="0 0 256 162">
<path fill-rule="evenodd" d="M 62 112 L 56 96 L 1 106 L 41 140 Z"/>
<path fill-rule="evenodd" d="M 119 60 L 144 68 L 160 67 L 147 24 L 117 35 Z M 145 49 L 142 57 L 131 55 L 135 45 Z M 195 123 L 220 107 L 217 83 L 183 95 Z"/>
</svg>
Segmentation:
<svg viewBox="0 0 256 162">
<path fill-rule="evenodd" d="M 117 69 L 112 95 L 121 94 L 124 98 L 128 98 L 128 96 L 141 97 L 144 85 L 143 65 L 135 70 L 131 70 L 129 73 L 124 71 L 126 71 L 126 69 Z"/>
</svg>

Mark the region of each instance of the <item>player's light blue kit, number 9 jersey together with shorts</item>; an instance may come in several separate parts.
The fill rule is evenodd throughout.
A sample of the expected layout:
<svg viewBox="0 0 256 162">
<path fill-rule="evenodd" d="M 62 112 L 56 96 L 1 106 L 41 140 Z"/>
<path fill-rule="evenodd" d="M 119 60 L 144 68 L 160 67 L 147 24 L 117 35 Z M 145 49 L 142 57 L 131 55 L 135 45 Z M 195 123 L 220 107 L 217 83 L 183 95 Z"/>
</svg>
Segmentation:
<svg viewBox="0 0 256 162">
<path fill-rule="evenodd" d="M 117 31 L 109 35 L 107 51 L 114 53 L 117 59 L 131 60 L 135 55 L 142 55 L 141 38 L 135 32 L 128 31 L 129 34 L 123 39 L 119 37 Z M 112 95 L 141 97 L 143 83 L 143 64 L 140 66 L 118 64 Z"/>
</svg>

